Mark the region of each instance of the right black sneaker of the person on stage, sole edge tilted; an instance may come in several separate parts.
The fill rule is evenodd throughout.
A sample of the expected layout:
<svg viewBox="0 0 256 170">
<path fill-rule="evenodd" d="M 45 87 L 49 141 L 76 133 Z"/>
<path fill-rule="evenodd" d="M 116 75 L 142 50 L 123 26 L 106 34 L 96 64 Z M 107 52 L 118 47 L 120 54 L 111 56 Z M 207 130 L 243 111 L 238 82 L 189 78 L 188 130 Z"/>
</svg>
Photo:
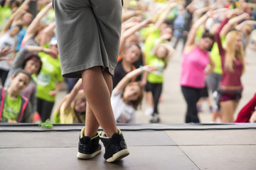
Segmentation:
<svg viewBox="0 0 256 170">
<path fill-rule="evenodd" d="M 100 140 L 105 146 L 104 158 L 107 162 L 116 162 L 129 155 L 124 136 L 119 129 L 118 133 L 114 133 L 112 137 L 100 136 Z"/>
</svg>

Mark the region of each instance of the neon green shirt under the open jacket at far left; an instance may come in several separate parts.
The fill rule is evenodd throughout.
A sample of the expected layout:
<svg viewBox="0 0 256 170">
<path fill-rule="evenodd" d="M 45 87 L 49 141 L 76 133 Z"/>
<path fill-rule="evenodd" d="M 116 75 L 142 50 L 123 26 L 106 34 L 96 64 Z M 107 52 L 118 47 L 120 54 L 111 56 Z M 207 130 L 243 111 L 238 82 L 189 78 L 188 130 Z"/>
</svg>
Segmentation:
<svg viewBox="0 0 256 170">
<path fill-rule="evenodd" d="M 21 110 L 21 95 L 18 95 L 16 99 L 12 99 L 9 95 L 6 95 L 6 101 L 4 103 L 2 123 L 8 122 L 9 119 L 16 120 L 18 113 Z"/>
</svg>

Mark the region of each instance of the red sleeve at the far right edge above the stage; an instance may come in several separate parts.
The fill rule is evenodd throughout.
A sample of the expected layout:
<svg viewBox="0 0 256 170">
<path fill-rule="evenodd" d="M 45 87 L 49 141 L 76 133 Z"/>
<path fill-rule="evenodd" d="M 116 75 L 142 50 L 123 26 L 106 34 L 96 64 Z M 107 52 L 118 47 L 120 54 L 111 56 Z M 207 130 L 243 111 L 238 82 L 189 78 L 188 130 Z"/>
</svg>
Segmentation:
<svg viewBox="0 0 256 170">
<path fill-rule="evenodd" d="M 242 108 L 242 110 L 238 113 L 238 118 L 235 120 L 235 123 L 249 123 L 250 117 L 255 111 L 256 106 L 256 93 L 250 99 L 250 101 Z"/>
</svg>

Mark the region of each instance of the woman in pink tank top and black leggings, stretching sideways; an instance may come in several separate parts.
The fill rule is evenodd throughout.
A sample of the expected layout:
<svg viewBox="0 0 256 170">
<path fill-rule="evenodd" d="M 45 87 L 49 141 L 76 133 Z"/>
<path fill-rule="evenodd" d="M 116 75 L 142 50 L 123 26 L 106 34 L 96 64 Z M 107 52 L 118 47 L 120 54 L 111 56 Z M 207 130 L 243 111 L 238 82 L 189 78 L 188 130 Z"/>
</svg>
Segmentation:
<svg viewBox="0 0 256 170">
<path fill-rule="evenodd" d="M 213 45 L 214 36 L 204 33 L 196 44 L 196 31 L 199 26 L 206 22 L 210 12 L 201 16 L 193 24 L 188 40 L 183 50 L 183 61 L 181 65 L 181 91 L 187 103 L 186 123 L 199 123 L 196 103 L 200 98 L 200 91 L 206 86 L 206 75 L 210 74 L 214 68 L 213 62 L 208 55 L 208 49 Z M 206 71 L 206 66 L 210 68 Z"/>
</svg>

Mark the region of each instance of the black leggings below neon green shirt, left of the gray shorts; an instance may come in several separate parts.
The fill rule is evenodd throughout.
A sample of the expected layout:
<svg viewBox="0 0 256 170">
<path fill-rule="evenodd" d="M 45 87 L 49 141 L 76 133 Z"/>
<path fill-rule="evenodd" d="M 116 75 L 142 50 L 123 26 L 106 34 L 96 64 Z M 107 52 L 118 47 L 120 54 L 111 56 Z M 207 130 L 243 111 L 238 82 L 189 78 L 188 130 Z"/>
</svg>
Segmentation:
<svg viewBox="0 0 256 170">
<path fill-rule="evenodd" d="M 38 99 L 38 114 L 41 117 L 42 122 L 50 119 L 51 111 L 53 110 L 54 102 L 45 101 L 41 98 Z"/>
</svg>

